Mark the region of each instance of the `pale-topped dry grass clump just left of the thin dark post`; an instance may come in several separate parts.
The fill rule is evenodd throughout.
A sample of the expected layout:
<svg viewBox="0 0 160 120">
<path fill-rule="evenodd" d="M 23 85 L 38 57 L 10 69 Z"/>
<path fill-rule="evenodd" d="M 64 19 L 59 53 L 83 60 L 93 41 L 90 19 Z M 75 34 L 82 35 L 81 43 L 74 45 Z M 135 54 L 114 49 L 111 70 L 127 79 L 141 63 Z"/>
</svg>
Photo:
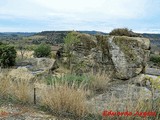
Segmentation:
<svg viewBox="0 0 160 120">
<path fill-rule="evenodd" d="M 9 88 L 11 95 L 23 103 L 33 101 L 34 76 L 26 68 L 12 70 L 8 74 L 8 79 L 11 82 Z"/>
</svg>

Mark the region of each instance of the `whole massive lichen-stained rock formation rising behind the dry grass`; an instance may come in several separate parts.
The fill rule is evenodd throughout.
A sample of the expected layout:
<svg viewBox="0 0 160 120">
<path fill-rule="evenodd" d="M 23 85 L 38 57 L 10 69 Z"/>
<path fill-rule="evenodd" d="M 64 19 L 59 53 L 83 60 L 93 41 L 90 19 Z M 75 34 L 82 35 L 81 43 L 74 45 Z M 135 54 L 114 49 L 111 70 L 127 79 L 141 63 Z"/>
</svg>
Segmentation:
<svg viewBox="0 0 160 120">
<path fill-rule="evenodd" d="M 71 56 L 64 48 L 57 52 L 57 62 L 69 65 L 76 73 L 100 72 L 115 78 L 129 79 L 144 72 L 149 56 L 150 41 L 125 36 L 79 35 L 80 42 L 72 45 Z"/>
</svg>

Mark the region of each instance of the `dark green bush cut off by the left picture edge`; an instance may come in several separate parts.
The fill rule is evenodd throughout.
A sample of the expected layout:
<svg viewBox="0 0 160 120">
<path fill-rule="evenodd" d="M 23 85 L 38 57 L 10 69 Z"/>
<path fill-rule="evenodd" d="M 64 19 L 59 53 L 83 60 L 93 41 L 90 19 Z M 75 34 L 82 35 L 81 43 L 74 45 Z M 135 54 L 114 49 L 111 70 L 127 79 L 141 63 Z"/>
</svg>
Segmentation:
<svg viewBox="0 0 160 120">
<path fill-rule="evenodd" d="M 13 46 L 0 43 L 0 66 L 14 66 L 16 61 L 16 50 Z"/>
</svg>

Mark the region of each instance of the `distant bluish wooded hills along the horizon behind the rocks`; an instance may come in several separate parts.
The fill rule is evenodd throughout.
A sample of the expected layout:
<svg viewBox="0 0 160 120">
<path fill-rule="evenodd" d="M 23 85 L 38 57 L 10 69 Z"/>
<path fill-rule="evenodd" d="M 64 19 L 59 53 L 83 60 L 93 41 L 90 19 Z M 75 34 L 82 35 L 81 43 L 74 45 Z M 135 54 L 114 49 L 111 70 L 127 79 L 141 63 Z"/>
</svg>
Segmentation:
<svg viewBox="0 0 160 120">
<path fill-rule="evenodd" d="M 22 39 L 22 37 L 26 37 L 30 39 L 33 44 L 40 44 L 42 42 L 46 42 L 48 44 L 61 44 L 64 43 L 64 37 L 68 32 L 71 31 L 42 31 L 42 32 L 1 32 L 0 33 L 0 41 L 15 41 Z M 80 33 L 86 33 L 91 35 L 108 35 L 108 33 L 101 31 L 77 31 Z M 143 37 L 149 38 L 151 43 L 154 45 L 158 45 L 160 47 L 160 34 L 148 34 L 143 33 Z"/>
</svg>

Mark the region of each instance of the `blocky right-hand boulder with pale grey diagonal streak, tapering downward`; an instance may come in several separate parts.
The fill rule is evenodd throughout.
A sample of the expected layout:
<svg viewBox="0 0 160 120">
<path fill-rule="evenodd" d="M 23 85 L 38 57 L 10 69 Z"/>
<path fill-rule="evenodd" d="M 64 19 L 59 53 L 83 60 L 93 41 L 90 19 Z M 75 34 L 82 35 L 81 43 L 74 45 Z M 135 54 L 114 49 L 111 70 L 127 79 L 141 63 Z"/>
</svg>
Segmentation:
<svg viewBox="0 0 160 120">
<path fill-rule="evenodd" d="M 144 72 L 149 56 L 149 39 L 116 36 L 109 38 L 108 44 L 117 78 L 129 79 Z"/>
</svg>

